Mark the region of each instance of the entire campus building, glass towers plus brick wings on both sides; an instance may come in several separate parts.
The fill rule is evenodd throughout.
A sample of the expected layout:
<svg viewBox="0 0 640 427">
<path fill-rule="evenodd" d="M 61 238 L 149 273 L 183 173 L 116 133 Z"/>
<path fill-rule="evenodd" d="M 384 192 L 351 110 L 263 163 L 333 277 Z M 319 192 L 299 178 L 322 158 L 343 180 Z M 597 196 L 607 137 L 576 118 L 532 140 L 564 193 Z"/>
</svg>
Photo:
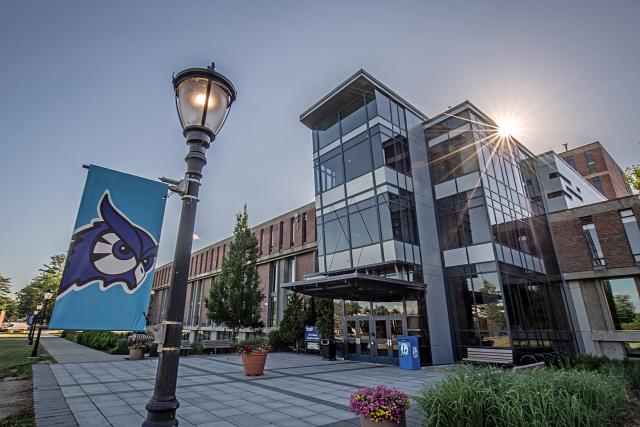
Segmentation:
<svg viewBox="0 0 640 427">
<path fill-rule="evenodd" d="M 536 156 L 471 102 L 428 117 L 364 70 L 300 121 L 315 202 L 253 228 L 268 328 L 299 292 L 334 300 L 350 360 L 397 364 L 399 335 L 418 338 L 423 364 L 469 348 L 511 350 L 514 363 L 633 354 L 640 212 L 600 143 Z M 230 338 L 204 307 L 229 244 L 191 257 L 185 338 Z M 156 269 L 152 323 L 170 275 Z"/>
</svg>

